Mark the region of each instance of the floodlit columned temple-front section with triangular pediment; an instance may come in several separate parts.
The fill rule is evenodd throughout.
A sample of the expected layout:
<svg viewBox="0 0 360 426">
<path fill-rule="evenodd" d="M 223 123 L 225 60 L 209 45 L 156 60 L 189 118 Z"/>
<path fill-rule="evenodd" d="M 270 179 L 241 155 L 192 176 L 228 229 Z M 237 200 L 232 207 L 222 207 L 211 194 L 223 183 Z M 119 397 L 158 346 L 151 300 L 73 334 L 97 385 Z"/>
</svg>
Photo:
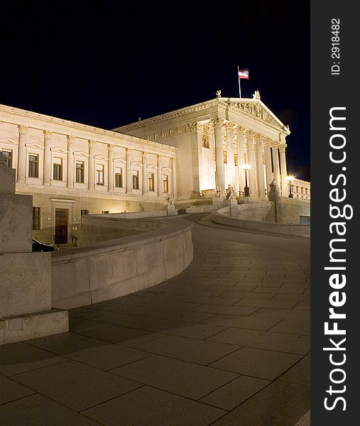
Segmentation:
<svg viewBox="0 0 360 426">
<path fill-rule="evenodd" d="M 246 179 L 253 197 L 265 199 L 274 178 L 283 197 L 289 195 L 285 149 L 290 130 L 258 96 L 217 97 L 115 130 L 178 148 L 178 200 L 228 185 L 241 193 Z"/>
</svg>

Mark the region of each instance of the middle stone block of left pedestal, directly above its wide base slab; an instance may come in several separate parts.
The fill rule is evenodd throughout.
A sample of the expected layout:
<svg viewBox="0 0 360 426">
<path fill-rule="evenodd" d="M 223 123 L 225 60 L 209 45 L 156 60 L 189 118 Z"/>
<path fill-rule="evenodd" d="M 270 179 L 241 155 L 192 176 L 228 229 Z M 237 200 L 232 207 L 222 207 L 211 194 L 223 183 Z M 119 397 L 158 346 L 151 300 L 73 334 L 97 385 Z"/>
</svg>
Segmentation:
<svg viewBox="0 0 360 426">
<path fill-rule="evenodd" d="M 51 309 L 50 253 L 3 253 L 0 277 L 0 317 Z"/>
</svg>

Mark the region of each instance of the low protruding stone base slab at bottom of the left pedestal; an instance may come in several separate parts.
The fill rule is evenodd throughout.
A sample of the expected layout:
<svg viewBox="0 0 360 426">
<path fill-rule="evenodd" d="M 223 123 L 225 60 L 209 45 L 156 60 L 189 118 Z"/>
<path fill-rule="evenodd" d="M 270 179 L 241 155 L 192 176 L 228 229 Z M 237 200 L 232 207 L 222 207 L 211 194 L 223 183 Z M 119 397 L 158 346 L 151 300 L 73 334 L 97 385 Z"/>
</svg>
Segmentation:
<svg viewBox="0 0 360 426">
<path fill-rule="evenodd" d="M 53 309 L 0 319 L 0 345 L 69 331 L 67 310 Z"/>
</svg>

